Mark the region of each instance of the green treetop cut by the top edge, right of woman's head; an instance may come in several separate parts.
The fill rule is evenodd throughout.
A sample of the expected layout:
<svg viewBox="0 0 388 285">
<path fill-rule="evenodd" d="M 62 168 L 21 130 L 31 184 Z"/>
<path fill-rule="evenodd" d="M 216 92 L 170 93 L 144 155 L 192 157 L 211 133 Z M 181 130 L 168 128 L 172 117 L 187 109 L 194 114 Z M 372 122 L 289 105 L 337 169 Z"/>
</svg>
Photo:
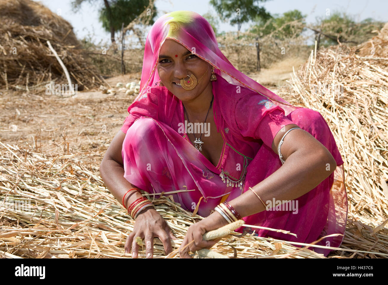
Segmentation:
<svg viewBox="0 0 388 285">
<path fill-rule="evenodd" d="M 253 19 L 269 19 L 271 15 L 258 2 L 268 0 L 210 0 L 210 4 L 219 14 L 222 21 L 228 21 L 232 26 L 237 24 L 238 34 L 243 23 Z"/>
</svg>

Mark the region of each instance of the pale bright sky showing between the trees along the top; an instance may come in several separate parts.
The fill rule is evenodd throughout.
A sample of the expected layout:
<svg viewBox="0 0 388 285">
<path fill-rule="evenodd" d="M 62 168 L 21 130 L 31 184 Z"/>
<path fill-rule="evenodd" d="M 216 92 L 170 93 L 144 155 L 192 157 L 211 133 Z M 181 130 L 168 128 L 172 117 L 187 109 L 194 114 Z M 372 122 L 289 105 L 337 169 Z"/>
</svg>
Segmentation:
<svg viewBox="0 0 388 285">
<path fill-rule="evenodd" d="M 92 4 L 85 1 L 80 12 L 77 13 L 71 10 L 71 0 L 41 0 L 40 2 L 69 21 L 79 39 L 88 34 L 94 34 L 96 43 L 100 40 L 109 41 L 109 33 L 104 31 L 98 21 L 98 10 L 104 5 L 103 0 L 92 0 Z M 156 0 L 155 5 L 159 10 L 158 17 L 176 10 L 191 10 L 201 15 L 211 12 L 216 15 L 209 0 L 196 0 L 194 2 Z M 354 16 L 356 21 L 362 21 L 369 17 L 377 21 L 388 21 L 388 1 L 386 0 L 268 0 L 260 5 L 271 14 L 282 14 L 294 9 L 300 10 L 302 14 L 308 15 L 307 23 L 315 23 L 317 17 L 325 17 L 327 9 L 330 9 L 330 12 L 335 10 L 345 12 Z M 248 26 L 249 24 L 244 24 L 242 30 L 244 31 Z M 228 23 L 220 22 L 218 29 L 219 31 L 237 31 L 237 25 L 230 26 Z"/>
</svg>

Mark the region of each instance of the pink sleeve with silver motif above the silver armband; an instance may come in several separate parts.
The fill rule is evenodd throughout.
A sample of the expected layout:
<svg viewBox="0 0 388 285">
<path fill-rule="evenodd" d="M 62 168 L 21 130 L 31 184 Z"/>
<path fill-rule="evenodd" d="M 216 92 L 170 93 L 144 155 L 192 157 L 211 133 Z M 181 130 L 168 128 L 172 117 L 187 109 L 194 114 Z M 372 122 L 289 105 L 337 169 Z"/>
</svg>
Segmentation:
<svg viewBox="0 0 388 285">
<path fill-rule="evenodd" d="M 258 93 L 248 93 L 236 104 L 236 123 L 244 137 L 260 139 L 268 147 L 280 129 L 294 124 L 284 110 Z"/>
</svg>

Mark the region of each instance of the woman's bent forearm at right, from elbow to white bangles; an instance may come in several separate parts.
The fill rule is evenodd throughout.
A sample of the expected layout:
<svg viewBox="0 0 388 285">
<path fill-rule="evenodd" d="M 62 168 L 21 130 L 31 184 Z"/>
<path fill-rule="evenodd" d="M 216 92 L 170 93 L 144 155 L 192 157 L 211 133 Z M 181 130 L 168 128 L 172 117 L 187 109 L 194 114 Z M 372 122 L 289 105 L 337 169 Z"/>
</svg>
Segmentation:
<svg viewBox="0 0 388 285">
<path fill-rule="evenodd" d="M 317 150 L 298 149 L 293 152 L 277 169 L 263 181 L 251 187 L 268 206 L 275 207 L 281 201 L 294 200 L 314 189 L 325 180 L 337 167 L 333 156 Z M 270 201 L 267 203 L 267 201 Z M 229 204 L 242 216 L 246 217 L 265 211 L 266 207 L 252 191 L 246 191 Z"/>
</svg>

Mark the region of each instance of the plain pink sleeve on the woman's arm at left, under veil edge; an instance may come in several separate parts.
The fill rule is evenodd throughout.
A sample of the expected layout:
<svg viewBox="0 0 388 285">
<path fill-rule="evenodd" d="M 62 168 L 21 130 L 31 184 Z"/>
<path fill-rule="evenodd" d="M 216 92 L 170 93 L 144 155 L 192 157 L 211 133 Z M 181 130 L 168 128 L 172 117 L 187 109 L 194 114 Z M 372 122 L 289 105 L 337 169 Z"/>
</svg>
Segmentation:
<svg viewBox="0 0 388 285">
<path fill-rule="evenodd" d="M 121 131 L 126 133 L 133 122 L 141 116 L 158 119 L 157 94 L 158 90 L 151 88 L 128 107 L 129 115 L 125 118 Z"/>
</svg>

